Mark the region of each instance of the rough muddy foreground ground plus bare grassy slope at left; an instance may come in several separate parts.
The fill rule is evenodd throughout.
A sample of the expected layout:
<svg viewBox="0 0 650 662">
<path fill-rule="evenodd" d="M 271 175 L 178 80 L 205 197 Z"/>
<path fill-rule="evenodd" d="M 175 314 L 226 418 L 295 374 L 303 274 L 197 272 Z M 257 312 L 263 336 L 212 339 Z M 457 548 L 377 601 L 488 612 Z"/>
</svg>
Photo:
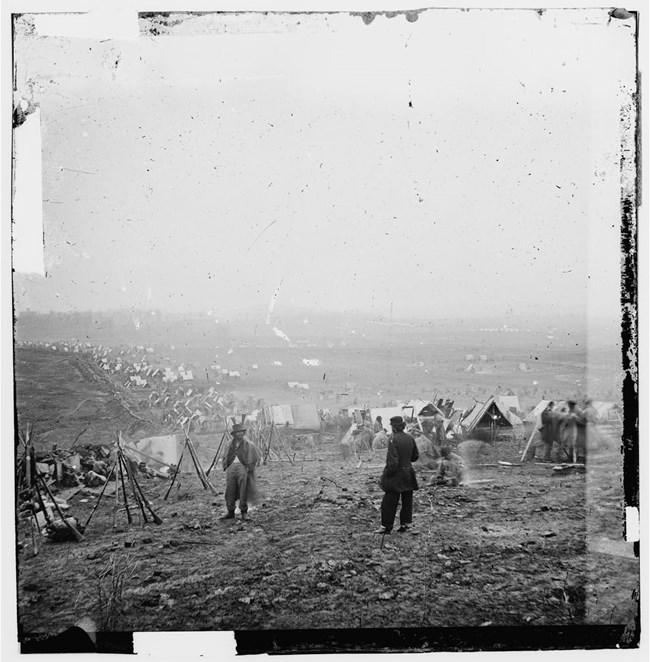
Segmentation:
<svg viewBox="0 0 650 662">
<path fill-rule="evenodd" d="M 29 354 L 19 359 L 25 361 L 17 383 L 23 417 L 42 411 L 45 398 L 65 414 L 54 420 L 68 421 L 71 440 L 84 419 L 103 443 L 119 426 L 152 431 L 120 405 L 108 383 L 79 370 L 76 357 L 56 371 L 34 368 Z M 49 380 L 41 396 L 29 383 L 33 369 Z M 66 371 L 75 370 L 71 380 Z M 53 423 L 43 413 L 39 421 L 41 440 L 47 439 Z M 504 443 L 494 459 L 517 461 L 517 451 Z M 166 481 L 141 482 L 161 525 L 128 525 L 123 511 L 115 515 L 114 497 L 105 497 L 83 543 L 42 541 L 35 556 L 30 529 L 19 524 L 23 633 L 58 632 L 84 615 L 130 631 L 633 627 L 639 569 L 621 538 L 615 443 L 590 455 L 586 474 L 558 476 L 536 464 L 485 467 L 472 471 L 477 482 L 452 488 L 429 487 L 431 474 L 421 471 L 413 530 L 389 536 L 374 533 L 383 453 L 361 459 L 361 466 L 354 456 L 343 459 L 337 440 L 324 436 L 294 463 L 259 467 L 263 500 L 246 522 L 218 520 L 223 472 L 213 474 L 219 492 L 213 496 L 186 466 L 181 487 L 166 501 Z M 96 500 L 78 492 L 69 499 L 72 514 L 84 522 Z M 113 574 L 102 579 L 109 567 Z M 111 587 L 120 578 L 121 590 Z"/>
</svg>

